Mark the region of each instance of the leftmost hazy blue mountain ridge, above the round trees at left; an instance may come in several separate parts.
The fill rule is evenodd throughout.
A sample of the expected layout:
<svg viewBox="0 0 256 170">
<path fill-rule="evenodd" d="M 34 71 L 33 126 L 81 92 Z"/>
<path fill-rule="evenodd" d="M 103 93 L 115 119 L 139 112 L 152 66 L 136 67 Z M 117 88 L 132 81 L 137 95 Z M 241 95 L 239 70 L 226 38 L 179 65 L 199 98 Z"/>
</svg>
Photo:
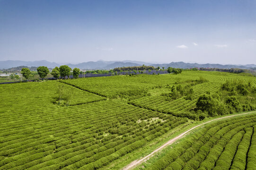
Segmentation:
<svg viewBox="0 0 256 170">
<path fill-rule="evenodd" d="M 46 60 L 40 61 L 20 61 L 20 60 L 6 60 L 0 61 L 0 69 L 14 68 L 19 66 L 27 66 L 27 67 L 39 67 L 46 66 L 48 68 L 59 67 L 60 65 L 55 62 L 49 62 Z"/>
</svg>

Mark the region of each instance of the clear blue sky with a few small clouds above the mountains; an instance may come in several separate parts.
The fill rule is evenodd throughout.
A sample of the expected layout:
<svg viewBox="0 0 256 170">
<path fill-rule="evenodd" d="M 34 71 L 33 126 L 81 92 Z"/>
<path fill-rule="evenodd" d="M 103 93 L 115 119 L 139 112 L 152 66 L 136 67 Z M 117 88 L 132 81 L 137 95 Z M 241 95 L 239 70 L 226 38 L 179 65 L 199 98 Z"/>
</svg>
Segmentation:
<svg viewBox="0 0 256 170">
<path fill-rule="evenodd" d="M 0 0 L 0 60 L 256 64 L 256 0 Z"/>
</svg>

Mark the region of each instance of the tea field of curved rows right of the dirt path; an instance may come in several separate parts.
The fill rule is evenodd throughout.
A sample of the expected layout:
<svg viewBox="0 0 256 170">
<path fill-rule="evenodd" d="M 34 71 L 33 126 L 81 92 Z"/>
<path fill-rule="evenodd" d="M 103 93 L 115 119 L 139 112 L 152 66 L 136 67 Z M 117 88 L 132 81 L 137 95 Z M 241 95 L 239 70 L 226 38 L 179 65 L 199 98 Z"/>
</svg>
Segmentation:
<svg viewBox="0 0 256 170">
<path fill-rule="evenodd" d="M 147 170 L 254 170 L 256 115 L 216 121 L 168 148 Z"/>
</svg>

